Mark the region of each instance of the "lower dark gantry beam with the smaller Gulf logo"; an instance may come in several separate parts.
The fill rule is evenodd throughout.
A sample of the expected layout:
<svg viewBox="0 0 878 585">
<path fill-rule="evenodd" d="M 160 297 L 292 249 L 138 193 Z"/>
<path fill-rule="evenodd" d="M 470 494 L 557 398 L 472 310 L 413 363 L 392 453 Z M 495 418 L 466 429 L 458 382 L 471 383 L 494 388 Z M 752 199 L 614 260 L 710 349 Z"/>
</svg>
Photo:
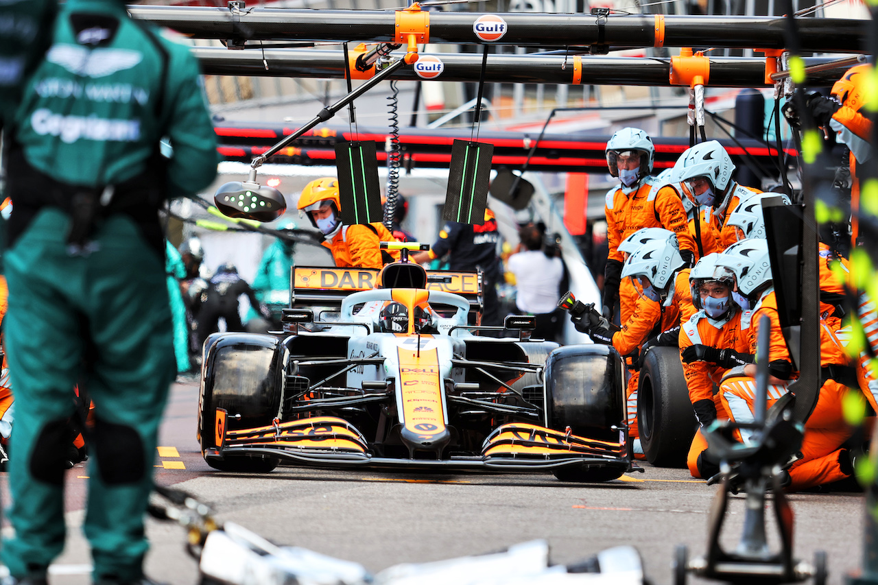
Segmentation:
<svg viewBox="0 0 878 585">
<path fill-rule="evenodd" d="M 222 47 L 194 47 L 192 52 L 207 75 L 227 76 L 291 76 L 343 78 L 342 51 L 318 49 L 265 49 L 229 51 Z M 478 54 L 429 54 L 433 59 L 420 65 L 397 70 L 390 78 L 399 80 L 425 79 L 444 82 L 478 82 L 482 57 Z M 435 61 L 438 60 L 438 61 Z M 711 57 L 711 87 L 767 86 L 766 61 L 758 57 Z M 441 66 L 437 66 L 437 63 Z M 831 59 L 810 57 L 807 66 L 831 63 Z M 568 83 L 591 85 L 671 85 L 670 59 L 639 57 L 605 57 L 595 55 L 490 54 L 485 70 L 488 83 Z M 810 74 L 808 85 L 831 86 L 850 65 L 840 65 Z M 356 70 L 352 71 L 356 74 Z M 363 77 L 371 77 L 374 69 Z"/>
</svg>

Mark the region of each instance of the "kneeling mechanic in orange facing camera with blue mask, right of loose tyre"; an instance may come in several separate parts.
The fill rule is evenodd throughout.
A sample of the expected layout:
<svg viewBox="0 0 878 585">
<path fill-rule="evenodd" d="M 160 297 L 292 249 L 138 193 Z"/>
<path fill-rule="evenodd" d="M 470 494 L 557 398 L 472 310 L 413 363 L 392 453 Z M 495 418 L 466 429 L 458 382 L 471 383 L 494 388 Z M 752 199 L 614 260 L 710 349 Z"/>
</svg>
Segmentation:
<svg viewBox="0 0 878 585">
<path fill-rule="evenodd" d="M 680 326 L 680 359 L 689 391 L 689 401 L 699 430 L 692 439 L 687 466 L 693 477 L 709 478 L 719 473 L 719 461 L 706 452 L 702 429 L 717 419 L 728 419 L 714 385 L 726 370 L 752 361 L 749 352 L 749 313 L 742 314 L 731 298 L 731 278 L 715 277 L 716 253 L 704 256 L 689 274 L 692 304 L 697 312 Z"/>
</svg>

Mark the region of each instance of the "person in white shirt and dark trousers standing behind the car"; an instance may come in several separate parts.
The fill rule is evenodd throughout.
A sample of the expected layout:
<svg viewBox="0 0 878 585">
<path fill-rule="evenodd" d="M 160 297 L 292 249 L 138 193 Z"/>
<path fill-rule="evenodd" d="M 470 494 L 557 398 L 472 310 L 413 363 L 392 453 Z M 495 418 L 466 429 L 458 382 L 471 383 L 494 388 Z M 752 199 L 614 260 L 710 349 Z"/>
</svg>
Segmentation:
<svg viewBox="0 0 878 585">
<path fill-rule="evenodd" d="M 518 313 L 536 315 L 534 337 L 558 341 L 564 326 L 563 311 L 558 309 L 564 263 L 543 251 L 543 234 L 538 227 L 524 226 L 518 237 L 521 251 L 507 261 L 507 270 L 515 275 L 515 307 Z"/>
</svg>

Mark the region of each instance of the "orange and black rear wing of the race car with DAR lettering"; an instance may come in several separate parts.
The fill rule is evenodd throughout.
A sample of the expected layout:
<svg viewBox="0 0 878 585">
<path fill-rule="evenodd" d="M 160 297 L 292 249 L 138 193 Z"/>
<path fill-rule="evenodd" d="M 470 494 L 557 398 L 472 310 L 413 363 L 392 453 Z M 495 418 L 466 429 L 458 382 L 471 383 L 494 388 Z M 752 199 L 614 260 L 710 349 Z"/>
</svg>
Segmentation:
<svg viewBox="0 0 878 585">
<path fill-rule="evenodd" d="M 369 291 L 378 282 L 378 270 L 295 266 L 291 272 L 293 308 L 342 308 L 350 293 Z M 479 272 L 427 271 L 427 289 L 459 294 L 470 303 L 470 315 L 482 310 L 482 277 Z"/>
</svg>

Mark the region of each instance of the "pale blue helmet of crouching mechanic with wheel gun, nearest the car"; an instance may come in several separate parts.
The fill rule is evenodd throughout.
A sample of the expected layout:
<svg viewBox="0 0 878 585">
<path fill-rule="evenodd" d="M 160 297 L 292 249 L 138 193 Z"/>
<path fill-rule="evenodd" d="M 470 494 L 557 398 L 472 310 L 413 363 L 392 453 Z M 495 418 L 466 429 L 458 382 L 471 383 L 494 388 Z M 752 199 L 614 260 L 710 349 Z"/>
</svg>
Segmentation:
<svg viewBox="0 0 878 585">
<path fill-rule="evenodd" d="M 622 277 L 629 277 L 635 289 L 649 300 L 659 301 L 667 297 L 673 286 L 674 275 L 686 262 L 680 256 L 680 244 L 677 236 L 668 230 L 663 239 L 651 240 L 640 246 L 625 260 Z M 644 281 L 645 279 L 645 281 Z M 640 280 L 641 291 L 635 280 Z"/>
</svg>

